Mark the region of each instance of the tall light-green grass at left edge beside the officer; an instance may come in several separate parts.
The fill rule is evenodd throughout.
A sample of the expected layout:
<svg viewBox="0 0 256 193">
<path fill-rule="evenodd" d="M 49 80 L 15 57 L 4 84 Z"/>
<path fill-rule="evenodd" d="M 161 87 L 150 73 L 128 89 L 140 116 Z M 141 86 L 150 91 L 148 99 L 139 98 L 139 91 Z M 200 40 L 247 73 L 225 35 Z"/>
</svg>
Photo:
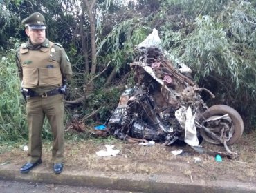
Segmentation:
<svg viewBox="0 0 256 193">
<path fill-rule="evenodd" d="M 0 57 L 0 141 L 27 136 L 25 102 L 15 65 L 15 50 L 1 52 Z"/>
</svg>

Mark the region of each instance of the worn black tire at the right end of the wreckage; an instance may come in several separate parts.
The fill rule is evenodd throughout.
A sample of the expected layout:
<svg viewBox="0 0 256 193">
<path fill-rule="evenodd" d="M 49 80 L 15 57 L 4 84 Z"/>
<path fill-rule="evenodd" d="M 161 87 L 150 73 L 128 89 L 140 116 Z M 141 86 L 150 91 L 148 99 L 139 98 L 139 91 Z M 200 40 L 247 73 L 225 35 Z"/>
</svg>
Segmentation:
<svg viewBox="0 0 256 193">
<path fill-rule="evenodd" d="M 235 130 L 232 137 L 230 138 L 230 140 L 227 141 L 227 145 L 232 145 L 241 138 L 241 135 L 244 132 L 244 121 L 243 119 L 241 119 L 240 114 L 235 109 L 227 105 L 214 105 L 208 108 L 208 110 L 205 110 L 205 112 L 203 112 L 200 118 L 200 123 L 210 118 L 211 116 L 221 116 L 224 114 L 228 114 L 230 116 L 230 118 L 232 119 L 232 123 L 235 126 Z M 220 143 L 216 139 L 212 139 L 212 137 L 210 137 L 208 133 L 206 133 L 203 129 L 200 130 L 200 134 L 203 137 L 203 139 L 205 139 L 205 141 L 214 144 Z"/>
</svg>

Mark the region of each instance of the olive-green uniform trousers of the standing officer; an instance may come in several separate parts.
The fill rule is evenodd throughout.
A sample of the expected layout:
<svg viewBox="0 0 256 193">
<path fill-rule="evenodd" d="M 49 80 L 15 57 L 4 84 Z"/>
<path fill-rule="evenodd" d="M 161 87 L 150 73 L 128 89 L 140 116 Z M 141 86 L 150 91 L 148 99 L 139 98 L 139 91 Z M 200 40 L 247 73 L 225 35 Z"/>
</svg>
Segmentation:
<svg viewBox="0 0 256 193">
<path fill-rule="evenodd" d="M 53 133 L 53 163 L 62 163 L 64 157 L 64 103 L 63 96 L 57 94 L 47 98 L 32 97 L 27 100 L 28 118 L 28 158 L 35 163 L 42 157 L 42 126 L 45 116 Z"/>
</svg>

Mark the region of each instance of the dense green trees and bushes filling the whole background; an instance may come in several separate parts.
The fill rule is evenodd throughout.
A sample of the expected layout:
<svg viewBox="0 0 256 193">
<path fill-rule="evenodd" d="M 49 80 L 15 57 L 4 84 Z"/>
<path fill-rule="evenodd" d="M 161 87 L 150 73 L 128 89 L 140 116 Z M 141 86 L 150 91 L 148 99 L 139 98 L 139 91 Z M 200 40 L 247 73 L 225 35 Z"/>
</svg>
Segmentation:
<svg viewBox="0 0 256 193">
<path fill-rule="evenodd" d="M 0 3 L 0 45 L 3 47 L 1 54 L 5 57 L 0 58 L 0 118 L 7 120 L 0 120 L 1 139 L 10 128 L 15 128 L 15 131 L 11 131 L 14 133 L 12 137 L 5 136 L 6 140 L 17 139 L 18 135 L 26 136 L 25 104 L 19 94 L 13 51 L 3 50 L 13 48 L 10 46 L 13 43 L 8 41 L 10 36 L 22 41 L 26 39 L 21 19 L 30 13 L 38 11 L 45 15 L 49 39 L 62 43 L 71 58 L 75 74 L 68 86 L 72 86 L 75 92 L 66 96 L 67 100 L 77 99 L 77 92 L 83 92 L 89 74 L 84 74 L 86 57 L 81 52 L 81 45 L 85 39 L 90 63 L 91 37 L 86 13 L 84 17 L 80 16 L 80 3 L 80 0 L 5 0 Z M 94 85 L 98 90 L 77 109 L 83 112 L 83 116 L 100 109 L 91 116 L 90 123 L 107 119 L 110 111 L 116 108 L 122 92 L 115 89 L 103 92 L 102 85 L 113 68 L 118 70 L 116 80 L 127 74 L 130 70 L 127 63 L 132 61 L 134 45 L 156 28 L 162 47 L 189 65 L 196 81 L 217 96 L 211 103 L 231 105 L 244 117 L 251 117 L 248 122 L 255 123 L 251 115 L 255 111 L 256 100 L 255 4 L 255 0 L 139 0 L 128 4 L 118 0 L 97 1 L 93 11 L 98 45 L 97 70 L 101 72 L 109 61 L 111 67 L 95 79 Z M 43 138 L 51 138 L 47 121 Z"/>
</svg>

